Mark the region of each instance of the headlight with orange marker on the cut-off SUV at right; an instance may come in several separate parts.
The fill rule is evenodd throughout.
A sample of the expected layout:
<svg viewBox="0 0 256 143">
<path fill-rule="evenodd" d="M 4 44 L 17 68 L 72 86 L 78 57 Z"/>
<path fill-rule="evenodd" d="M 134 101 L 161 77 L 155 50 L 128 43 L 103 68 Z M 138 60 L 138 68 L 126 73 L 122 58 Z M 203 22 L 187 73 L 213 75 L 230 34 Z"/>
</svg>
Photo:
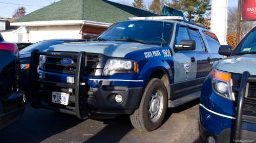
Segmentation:
<svg viewBox="0 0 256 143">
<path fill-rule="evenodd" d="M 211 87 L 212 90 L 219 96 L 234 101 L 232 93 L 232 82 L 230 73 L 212 69 L 211 71 Z"/>
</svg>

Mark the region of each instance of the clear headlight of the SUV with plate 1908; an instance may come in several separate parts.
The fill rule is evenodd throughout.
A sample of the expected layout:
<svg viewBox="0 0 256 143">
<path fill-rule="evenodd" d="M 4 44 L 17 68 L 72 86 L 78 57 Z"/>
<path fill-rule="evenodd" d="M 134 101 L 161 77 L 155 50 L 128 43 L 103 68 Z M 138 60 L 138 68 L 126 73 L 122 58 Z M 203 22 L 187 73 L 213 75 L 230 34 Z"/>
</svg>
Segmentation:
<svg viewBox="0 0 256 143">
<path fill-rule="evenodd" d="M 135 60 L 109 58 L 102 75 L 111 76 L 115 73 L 138 73 L 138 63 Z"/>
</svg>

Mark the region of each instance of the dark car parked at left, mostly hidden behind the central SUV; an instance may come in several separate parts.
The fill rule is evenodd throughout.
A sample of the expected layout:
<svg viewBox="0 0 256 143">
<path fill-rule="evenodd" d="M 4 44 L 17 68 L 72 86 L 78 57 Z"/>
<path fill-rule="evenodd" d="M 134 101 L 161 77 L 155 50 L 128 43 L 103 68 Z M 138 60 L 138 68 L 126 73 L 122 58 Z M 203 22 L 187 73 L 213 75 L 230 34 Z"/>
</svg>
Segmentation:
<svg viewBox="0 0 256 143">
<path fill-rule="evenodd" d="M 84 42 L 86 40 L 82 39 L 52 39 L 52 40 L 45 40 L 40 41 L 37 43 L 34 43 L 33 45 L 30 45 L 23 50 L 21 50 L 20 53 L 20 67 L 22 69 L 21 71 L 21 89 L 23 91 L 27 91 L 27 85 L 28 85 L 28 75 L 29 75 L 29 62 L 30 62 L 30 53 L 33 49 L 38 49 L 39 51 L 44 51 L 48 49 L 52 45 L 57 44 L 63 44 L 63 43 L 70 43 L 70 42 Z"/>
</svg>

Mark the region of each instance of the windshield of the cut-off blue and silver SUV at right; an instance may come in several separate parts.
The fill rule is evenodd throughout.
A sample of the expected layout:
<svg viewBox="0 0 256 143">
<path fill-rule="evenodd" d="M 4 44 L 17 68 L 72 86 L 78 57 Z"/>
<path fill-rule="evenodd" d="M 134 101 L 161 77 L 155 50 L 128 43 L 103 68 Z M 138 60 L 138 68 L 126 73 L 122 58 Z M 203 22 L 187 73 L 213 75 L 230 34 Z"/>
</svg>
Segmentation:
<svg viewBox="0 0 256 143">
<path fill-rule="evenodd" d="M 256 53 L 256 28 L 243 41 L 236 53 Z"/>
</svg>

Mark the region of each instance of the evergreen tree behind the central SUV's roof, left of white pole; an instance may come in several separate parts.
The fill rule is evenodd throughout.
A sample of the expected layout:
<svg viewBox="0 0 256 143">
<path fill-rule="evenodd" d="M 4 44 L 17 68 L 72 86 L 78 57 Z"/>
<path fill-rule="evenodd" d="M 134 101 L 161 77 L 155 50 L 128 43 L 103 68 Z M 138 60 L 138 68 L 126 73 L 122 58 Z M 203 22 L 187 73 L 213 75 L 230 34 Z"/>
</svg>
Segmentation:
<svg viewBox="0 0 256 143">
<path fill-rule="evenodd" d="M 171 8 L 185 12 L 188 21 L 202 23 L 207 11 L 211 10 L 210 0 L 173 0 L 165 2 Z"/>
</svg>

